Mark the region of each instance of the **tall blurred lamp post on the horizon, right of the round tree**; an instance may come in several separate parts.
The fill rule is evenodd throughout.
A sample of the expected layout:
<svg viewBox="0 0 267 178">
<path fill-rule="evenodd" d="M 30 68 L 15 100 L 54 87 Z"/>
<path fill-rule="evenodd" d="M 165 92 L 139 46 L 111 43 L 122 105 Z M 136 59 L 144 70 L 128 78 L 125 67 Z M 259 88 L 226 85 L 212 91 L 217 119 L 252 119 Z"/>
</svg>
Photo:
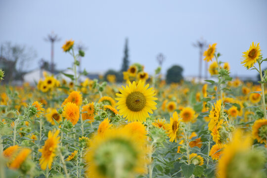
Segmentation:
<svg viewBox="0 0 267 178">
<path fill-rule="evenodd" d="M 199 82 L 202 78 L 202 60 L 203 60 L 203 52 L 204 49 L 208 46 L 207 42 L 205 40 L 203 40 L 203 38 L 201 38 L 200 40 L 198 40 L 195 44 L 193 44 L 193 46 L 199 48 L 199 73 L 198 73 L 198 79 Z M 207 62 L 206 62 L 207 63 Z M 205 65 L 205 78 L 208 77 L 208 68 L 207 68 L 207 64 Z"/>
</svg>

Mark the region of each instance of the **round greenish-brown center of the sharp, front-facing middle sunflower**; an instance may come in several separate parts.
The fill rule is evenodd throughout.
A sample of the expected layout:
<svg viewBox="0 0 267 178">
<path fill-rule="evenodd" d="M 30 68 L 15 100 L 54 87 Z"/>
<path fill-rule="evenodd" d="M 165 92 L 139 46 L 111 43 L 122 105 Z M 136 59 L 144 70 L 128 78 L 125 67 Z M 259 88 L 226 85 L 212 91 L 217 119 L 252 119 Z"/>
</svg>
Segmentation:
<svg viewBox="0 0 267 178">
<path fill-rule="evenodd" d="M 131 111 L 141 111 L 145 107 L 145 96 L 139 91 L 134 91 L 127 96 L 126 105 Z"/>
</svg>

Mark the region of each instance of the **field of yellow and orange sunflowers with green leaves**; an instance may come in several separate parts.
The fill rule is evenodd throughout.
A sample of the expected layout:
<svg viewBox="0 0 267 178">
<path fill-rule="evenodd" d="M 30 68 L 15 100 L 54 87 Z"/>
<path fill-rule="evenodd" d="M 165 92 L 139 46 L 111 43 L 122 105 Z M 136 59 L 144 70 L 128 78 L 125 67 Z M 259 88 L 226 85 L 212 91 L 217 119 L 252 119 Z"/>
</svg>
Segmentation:
<svg viewBox="0 0 267 178">
<path fill-rule="evenodd" d="M 117 84 L 81 81 L 67 41 L 71 82 L 0 86 L 0 178 L 266 178 L 267 58 L 248 45 L 240 62 L 261 81 L 244 83 L 216 45 L 203 55 L 217 80 L 167 85 L 135 63 Z"/>
</svg>

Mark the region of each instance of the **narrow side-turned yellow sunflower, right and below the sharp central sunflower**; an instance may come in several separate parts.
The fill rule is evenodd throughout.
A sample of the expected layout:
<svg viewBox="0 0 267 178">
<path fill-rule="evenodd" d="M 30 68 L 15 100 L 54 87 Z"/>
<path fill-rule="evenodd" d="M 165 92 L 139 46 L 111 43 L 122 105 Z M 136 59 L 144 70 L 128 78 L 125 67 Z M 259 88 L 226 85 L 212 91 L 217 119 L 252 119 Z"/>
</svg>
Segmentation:
<svg viewBox="0 0 267 178">
<path fill-rule="evenodd" d="M 180 119 L 178 119 L 177 112 L 174 112 L 173 117 L 170 118 L 170 124 L 166 124 L 166 129 L 168 131 L 168 136 L 170 137 L 170 141 L 177 142 L 177 137 L 180 137 L 181 130 L 179 128 Z"/>
</svg>

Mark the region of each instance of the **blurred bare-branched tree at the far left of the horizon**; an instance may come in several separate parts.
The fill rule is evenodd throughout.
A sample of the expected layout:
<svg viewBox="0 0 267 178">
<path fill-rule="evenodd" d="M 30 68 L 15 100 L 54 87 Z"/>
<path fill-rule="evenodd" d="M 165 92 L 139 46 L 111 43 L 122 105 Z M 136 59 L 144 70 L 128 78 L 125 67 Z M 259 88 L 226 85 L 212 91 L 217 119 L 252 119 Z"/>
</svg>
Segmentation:
<svg viewBox="0 0 267 178">
<path fill-rule="evenodd" d="M 6 72 L 5 82 L 10 82 L 15 76 L 22 74 L 36 56 L 36 51 L 26 45 L 12 45 L 10 42 L 1 44 L 0 66 L 3 66 Z"/>
</svg>

